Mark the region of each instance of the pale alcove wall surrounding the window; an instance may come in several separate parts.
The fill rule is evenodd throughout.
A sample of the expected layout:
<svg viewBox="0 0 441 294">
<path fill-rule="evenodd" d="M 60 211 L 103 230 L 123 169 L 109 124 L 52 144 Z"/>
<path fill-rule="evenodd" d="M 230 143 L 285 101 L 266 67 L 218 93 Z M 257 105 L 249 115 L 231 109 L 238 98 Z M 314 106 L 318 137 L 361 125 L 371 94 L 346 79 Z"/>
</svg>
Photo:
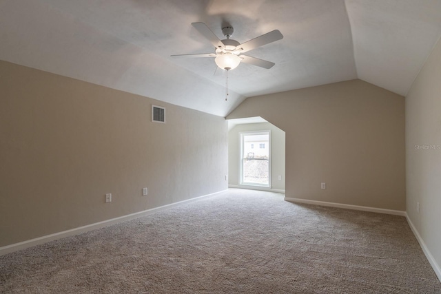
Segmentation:
<svg viewBox="0 0 441 294">
<path fill-rule="evenodd" d="M 239 185 L 240 132 L 271 131 L 271 189 L 285 190 L 285 132 L 271 123 L 236 125 L 228 132 L 228 184 Z M 278 180 L 282 176 L 282 180 Z"/>
</svg>

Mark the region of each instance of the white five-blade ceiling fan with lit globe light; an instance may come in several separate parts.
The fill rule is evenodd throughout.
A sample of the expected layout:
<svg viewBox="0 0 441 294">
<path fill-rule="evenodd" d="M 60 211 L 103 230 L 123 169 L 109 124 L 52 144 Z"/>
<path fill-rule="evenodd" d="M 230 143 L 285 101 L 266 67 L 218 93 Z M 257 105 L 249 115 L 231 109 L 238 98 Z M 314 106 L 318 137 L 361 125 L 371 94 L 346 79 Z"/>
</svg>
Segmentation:
<svg viewBox="0 0 441 294">
<path fill-rule="evenodd" d="M 214 61 L 216 62 L 216 65 L 223 70 L 233 70 L 240 62 L 257 65 L 267 69 L 273 67 L 274 63 L 271 61 L 256 59 L 252 56 L 243 55 L 243 53 L 283 39 L 283 34 L 280 33 L 279 30 L 273 30 L 240 44 L 236 40 L 229 39 L 234 32 L 234 29 L 231 26 L 222 28 L 222 32 L 227 39 L 220 40 L 205 23 L 192 23 L 192 25 L 198 30 L 198 32 L 205 36 L 212 45 L 214 45 L 214 53 L 179 54 L 172 55 L 172 57 L 215 57 Z"/>
</svg>

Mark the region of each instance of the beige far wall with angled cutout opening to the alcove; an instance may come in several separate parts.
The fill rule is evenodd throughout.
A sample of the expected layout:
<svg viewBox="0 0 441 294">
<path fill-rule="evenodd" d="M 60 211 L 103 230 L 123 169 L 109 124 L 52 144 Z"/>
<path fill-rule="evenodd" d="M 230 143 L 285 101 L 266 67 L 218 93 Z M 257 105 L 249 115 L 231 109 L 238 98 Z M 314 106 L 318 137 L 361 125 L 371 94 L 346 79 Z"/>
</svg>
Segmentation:
<svg viewBox="0 0 441 294">
<path fill-rule="evenodd" d="M 405 210 L 402 96 L 353 80 L 247 98 L 227 119 L 253 116 L 286 133 L 287 198 Z"/>
</svg>

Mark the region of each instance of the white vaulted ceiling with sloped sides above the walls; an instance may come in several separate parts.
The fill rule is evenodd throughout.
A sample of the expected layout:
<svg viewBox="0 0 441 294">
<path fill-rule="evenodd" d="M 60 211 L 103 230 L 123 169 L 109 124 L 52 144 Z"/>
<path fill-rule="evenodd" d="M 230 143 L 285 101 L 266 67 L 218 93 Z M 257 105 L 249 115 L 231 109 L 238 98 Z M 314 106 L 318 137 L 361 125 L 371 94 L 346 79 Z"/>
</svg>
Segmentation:
<svg viewBox="0 0 441 294">
<path fill-rule="evenodd" d="M 192 22 L 276 63 L 225 72 Z M 226 116 L 246 97 L 360 78 L 405 95 L 441 36 L 441 0 L 0 0 L 0 59 Z"/>
</svg>

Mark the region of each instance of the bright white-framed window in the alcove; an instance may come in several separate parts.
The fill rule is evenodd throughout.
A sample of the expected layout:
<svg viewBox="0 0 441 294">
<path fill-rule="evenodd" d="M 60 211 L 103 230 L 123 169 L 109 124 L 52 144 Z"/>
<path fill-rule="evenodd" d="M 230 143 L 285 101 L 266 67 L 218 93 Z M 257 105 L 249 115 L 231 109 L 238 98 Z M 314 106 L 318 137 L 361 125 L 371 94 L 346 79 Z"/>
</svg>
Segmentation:
<svg viewBox="0 0 441 294">
<path fill-rule="evenodd" d="M 241 185 L 269 187 L 269 135 L 269 131 L 240 133 Z M 254 145 L 259 149 L 254 149 Z"/>
</svg>

